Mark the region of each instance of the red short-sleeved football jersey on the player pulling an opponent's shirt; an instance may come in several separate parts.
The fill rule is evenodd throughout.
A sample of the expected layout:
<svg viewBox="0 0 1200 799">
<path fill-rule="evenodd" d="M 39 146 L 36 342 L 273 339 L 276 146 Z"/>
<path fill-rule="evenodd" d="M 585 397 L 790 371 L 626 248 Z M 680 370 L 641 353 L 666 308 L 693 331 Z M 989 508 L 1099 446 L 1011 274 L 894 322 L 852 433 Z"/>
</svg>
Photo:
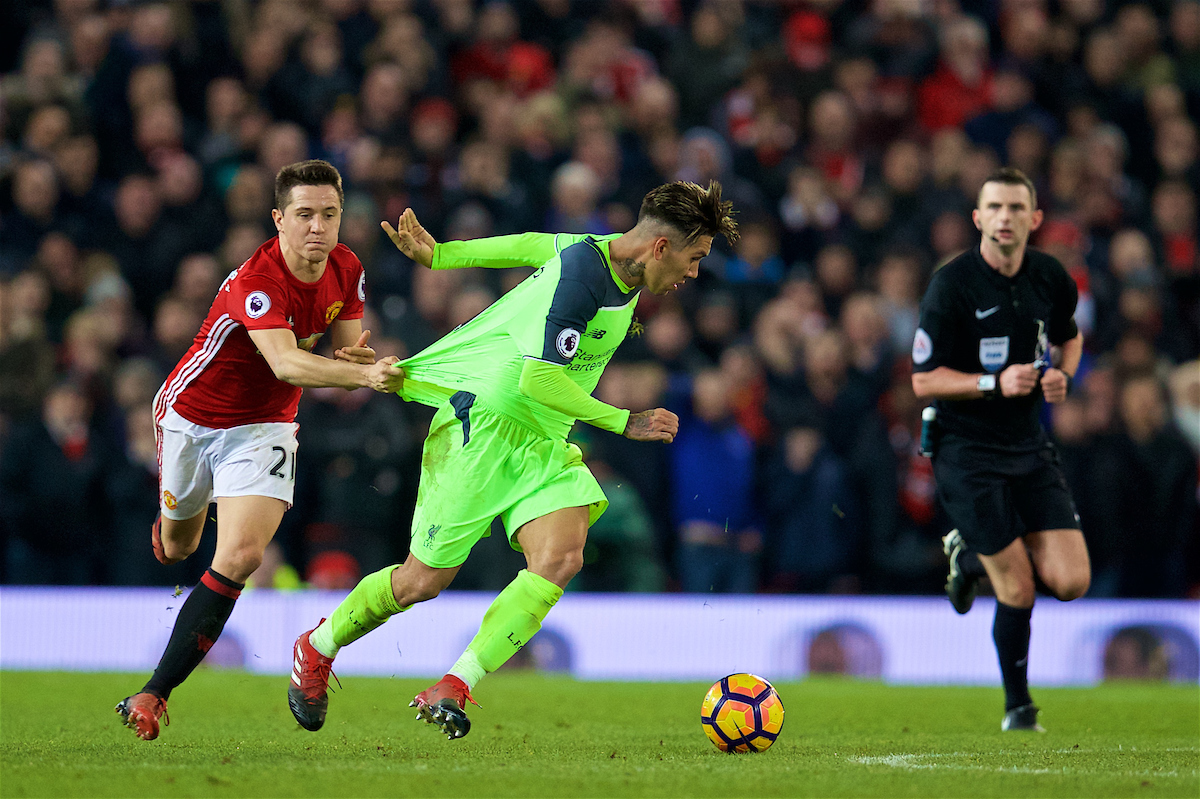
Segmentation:
<svg viewBox="0 0 1200 799">
<path fill-rule="evenodd" d="M 334 319 L 361 319 L 362 264 L 337 245 L 316 283 L 305 283 L 283 263 L 274 238 L 229 274 L 212 300 L 191 349 L 172 371 L 155 403 L 203 427 L 295 421 L 299 386 L 275 377 L 247 330 L 290 328 L 312 352 Z"/>
</svg>

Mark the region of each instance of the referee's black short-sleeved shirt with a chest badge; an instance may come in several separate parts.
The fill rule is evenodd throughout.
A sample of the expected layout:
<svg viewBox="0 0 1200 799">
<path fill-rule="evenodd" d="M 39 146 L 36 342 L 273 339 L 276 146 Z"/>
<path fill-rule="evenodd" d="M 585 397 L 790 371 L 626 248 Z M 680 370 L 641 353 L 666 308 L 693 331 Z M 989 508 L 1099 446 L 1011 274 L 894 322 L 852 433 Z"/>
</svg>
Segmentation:
<svg viewBox="0 0 1200 799">
<path fill-rule="evenodd" d="M 1004 277 L 974 250 L 934 274 L 920 301 L 920 326 L 912 344 L 912 368 L 947 366 L 998 376 L 1012 364 L 1050 365 L 1050 346 L 1074 338 L 1075 281 L 1056 258 L 1026 248 L 1021 269 Z M 1036 386 L 1024 397 L 998 391 L 982 400 L 936 400 L 942 433 L 1019 451 L 1044 440 Z"/>
</svg>

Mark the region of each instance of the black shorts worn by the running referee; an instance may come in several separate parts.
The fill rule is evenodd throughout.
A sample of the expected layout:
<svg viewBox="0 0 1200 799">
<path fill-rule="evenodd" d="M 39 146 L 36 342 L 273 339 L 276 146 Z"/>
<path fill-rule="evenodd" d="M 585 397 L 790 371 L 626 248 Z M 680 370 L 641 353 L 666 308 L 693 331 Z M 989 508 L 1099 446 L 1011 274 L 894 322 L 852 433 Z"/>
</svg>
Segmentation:
<svg viewBox="0 0 1200 799">
<path fill-rule="evenodd" d="M 1010 452 L 947 434 L 934 453 L 934 479 L 950 521 L 979 554 L 996 554 L 1027 533 L 1079 529 L 1050 441 Z"/>
</svg>

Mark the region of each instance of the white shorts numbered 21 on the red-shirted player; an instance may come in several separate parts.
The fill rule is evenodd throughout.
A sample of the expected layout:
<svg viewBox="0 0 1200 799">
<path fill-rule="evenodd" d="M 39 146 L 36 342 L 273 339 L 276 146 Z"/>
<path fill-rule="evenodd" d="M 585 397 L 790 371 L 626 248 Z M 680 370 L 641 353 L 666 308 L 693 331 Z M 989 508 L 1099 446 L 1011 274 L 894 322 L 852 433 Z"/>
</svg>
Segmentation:
<svg viewBox="0 0 1200 799">
<path fill-rule="evenodd" d="M 300 428 L 295 422 L 202 427 L 173 408 L 156 422 L 158 507 L 164 517 L 192 518 L 218 497 L 272 497 L 292 507 Z"/>
</svg>

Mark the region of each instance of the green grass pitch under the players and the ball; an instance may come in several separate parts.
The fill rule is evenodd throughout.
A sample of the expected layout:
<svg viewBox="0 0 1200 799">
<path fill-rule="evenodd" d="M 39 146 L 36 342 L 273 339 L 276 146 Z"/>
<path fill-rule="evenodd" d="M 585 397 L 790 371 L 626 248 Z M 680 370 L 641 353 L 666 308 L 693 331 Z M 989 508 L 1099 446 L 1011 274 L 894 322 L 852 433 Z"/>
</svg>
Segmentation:
<svg viewBox="0 0 1200 799">
<path fill-rule="evenodd" d="M 731 756 L 701 732 L 708 685 L 502 672 L 470 734 L 448 741 L 407 707 L 428 680 L 352 677 L 310 733 L 287 677 L 202 669 L 145 743 L 113 713 L 144 677 L 0 673 L 0 795 L 1200 795 L 1195 685 L 1034 690 L 1037 734 L 1000 732 L 998 687 L 776 684 L 779 743 Z"/>
</svg>

